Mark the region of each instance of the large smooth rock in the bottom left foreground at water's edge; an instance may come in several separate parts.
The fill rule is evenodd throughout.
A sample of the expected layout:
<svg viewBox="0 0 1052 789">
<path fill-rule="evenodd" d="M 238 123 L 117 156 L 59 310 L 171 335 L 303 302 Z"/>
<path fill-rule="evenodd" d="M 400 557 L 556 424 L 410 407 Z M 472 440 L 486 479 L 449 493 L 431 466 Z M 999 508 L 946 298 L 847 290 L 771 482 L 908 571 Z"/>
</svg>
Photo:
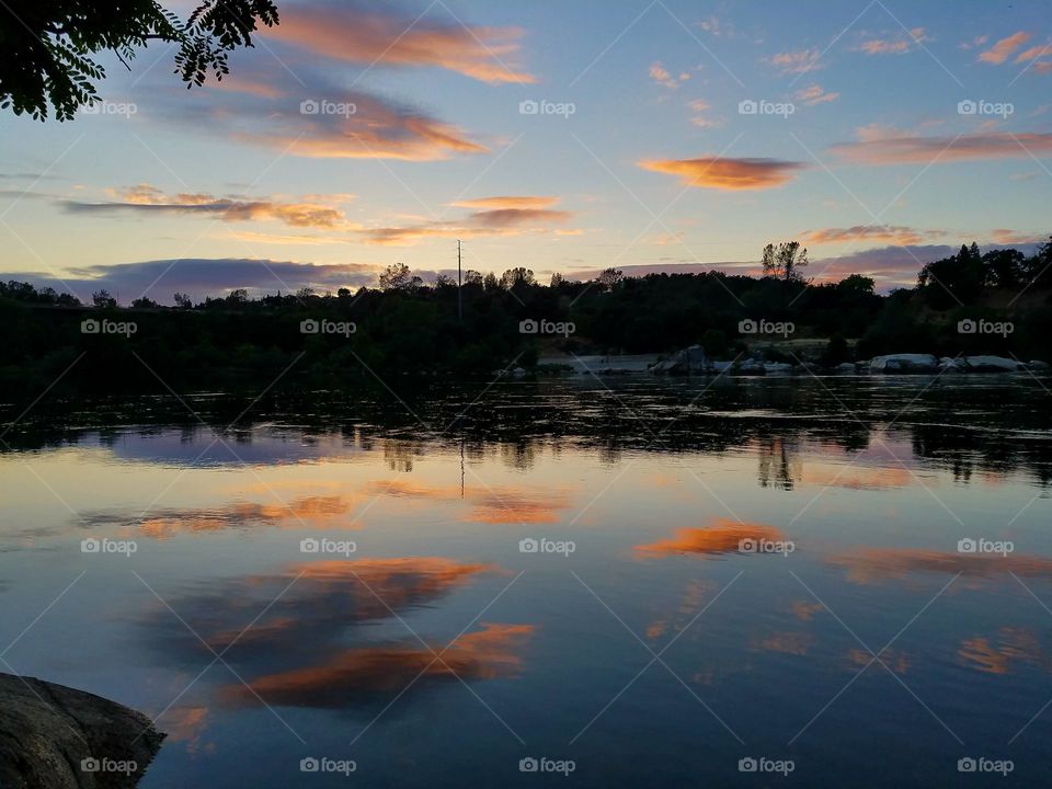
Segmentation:
<svg viewBox="0 0 1052 789">
<path fill-rule="evenodd" d="M 130 789 L 163 739 L 149 718 L 115 701 L 0 674 L 3 789 Z M 93 771 L 104 759 L 110 769 Z"/>
</svg>

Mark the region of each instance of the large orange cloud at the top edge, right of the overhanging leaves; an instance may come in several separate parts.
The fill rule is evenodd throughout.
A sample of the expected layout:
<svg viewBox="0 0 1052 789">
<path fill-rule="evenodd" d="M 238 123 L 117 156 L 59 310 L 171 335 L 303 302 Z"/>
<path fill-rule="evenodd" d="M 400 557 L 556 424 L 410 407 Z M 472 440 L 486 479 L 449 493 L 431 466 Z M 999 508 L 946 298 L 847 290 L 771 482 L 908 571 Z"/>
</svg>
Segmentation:
<svg viewBox="0 0 1052 789">
<path fill-rule="evenodd" d="M 335 60 L 442 68 L 489 83 L 537 81 L 514 65 L 523 36 L 517 27 L 414 21 L 350 2 L 293 5 L 267 36 Z"/>
</svg>

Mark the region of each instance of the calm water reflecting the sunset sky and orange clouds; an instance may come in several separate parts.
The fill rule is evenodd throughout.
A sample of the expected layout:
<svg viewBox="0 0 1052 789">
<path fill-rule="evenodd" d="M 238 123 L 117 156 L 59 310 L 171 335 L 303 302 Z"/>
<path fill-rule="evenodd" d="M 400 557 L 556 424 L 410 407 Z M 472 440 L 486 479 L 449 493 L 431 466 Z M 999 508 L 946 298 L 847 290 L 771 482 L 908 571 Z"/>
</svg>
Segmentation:
<svg viewBox="0 0 1052 789">
<path fill-rule="evenodd" d="M 0 671 L 146 789 L 1045 784 L 1049 378 L 404 386 L 35 407 Z"/>
</svg>

